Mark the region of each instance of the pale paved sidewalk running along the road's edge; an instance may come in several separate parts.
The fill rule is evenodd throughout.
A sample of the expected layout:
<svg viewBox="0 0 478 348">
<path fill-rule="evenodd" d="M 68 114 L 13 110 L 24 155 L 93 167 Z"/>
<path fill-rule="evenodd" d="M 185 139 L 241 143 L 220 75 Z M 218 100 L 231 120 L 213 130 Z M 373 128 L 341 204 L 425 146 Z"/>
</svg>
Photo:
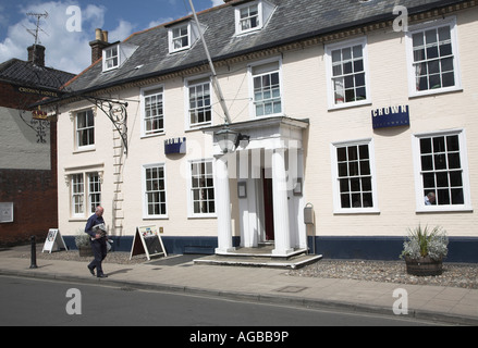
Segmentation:
<svg viewBox="0 0 478 348">
<path fill-rule="evenodd" d="M 108 278 L 97 278 L 86 262 L 37 258 L 38 268 L 29 269 L 22 248 L 0 250 L 0 275 L 478 325 L 478 289 L 291 276 L 281 269 L 195 264 L 191 256 L 105 263 Z"/>
</svg>

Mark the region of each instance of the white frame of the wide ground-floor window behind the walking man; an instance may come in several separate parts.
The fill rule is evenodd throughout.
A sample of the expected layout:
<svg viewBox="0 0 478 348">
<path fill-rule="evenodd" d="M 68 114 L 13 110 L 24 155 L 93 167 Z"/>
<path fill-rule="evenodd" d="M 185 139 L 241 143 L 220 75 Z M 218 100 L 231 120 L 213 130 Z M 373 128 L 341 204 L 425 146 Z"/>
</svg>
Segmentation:
<svg viewBox="0 0 478 348">
<path fill-rule="evenodd" d="M 99 185 L 99 191 L 93 191 L 90 189 L 91 184 L 91 176 L 95 175 L 98 177 L 98 182 L 96 182 L 97 185 Z M 70 186 L 70 215 L 73 219 L 87 219 L 89 215 L 95 213 L 95 208 L 91 204 L 95 203 L 95 206 L 101 204 L 102 199 L 102 171 L 87 171 L 87 172 L 76 172 L 76 173 L 70 173 L 68 174 L 68 182 Z M 75 177 L 82 178 L 82 190 L 75 192 L 75 187 L 77 187 L 77 184 L 75 184 Z M 99 201 L 93 201 L 91 195 L 98 194 L 100 199 Z M 75 201 L 75 197 L 78 197 L 81 203 L 77 204 Z M 76 212 L 75 207 L 81 207 L 81 211 Z"/>
</svg>

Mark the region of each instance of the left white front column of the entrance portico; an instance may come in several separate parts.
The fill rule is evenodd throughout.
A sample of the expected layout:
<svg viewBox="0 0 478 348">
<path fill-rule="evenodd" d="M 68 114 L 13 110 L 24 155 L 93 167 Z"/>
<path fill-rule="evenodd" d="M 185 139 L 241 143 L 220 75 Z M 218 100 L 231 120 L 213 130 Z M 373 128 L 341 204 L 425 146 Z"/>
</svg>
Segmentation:
<svg viewBox="0 0 478 348">
<path fill-rule="evenodd" d="M 231 228 L 231 197 L 229 191 L 228 157 L 216 161 L 216 213 L 218 214 L 218 248 L 216 253 L 234 251 Z"/>
</svg>

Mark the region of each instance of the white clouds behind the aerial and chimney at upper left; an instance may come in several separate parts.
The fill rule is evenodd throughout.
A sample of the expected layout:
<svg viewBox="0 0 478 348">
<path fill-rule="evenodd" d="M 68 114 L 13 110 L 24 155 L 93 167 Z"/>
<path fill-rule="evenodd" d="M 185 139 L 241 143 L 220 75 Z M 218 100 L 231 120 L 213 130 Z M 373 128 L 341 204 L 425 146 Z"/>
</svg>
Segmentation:
<svg viewBox="0 0 478 348">
<path fill-rule="evenodd" d="M 107 9 L 101 5 L 89 4 L 81 8 L 82 32 L 71 32 L 66 22 L 72 14 L 66 9 L 75 4 L 70 0 L 50 1 L 41 4 L 21 9 L 21 13 L 48 12 L 48 18 L 40 21 L 39 40 L 46 47 L 46 65 L 58 70 L 79 73 L 91 63 L 91 50 L 89 41 L 95 39 L 95 28 L 102 28 Z M 35 21 L 34 21 L 35 20 Z M 11 58 L 27 59 L 27 47 L 35 42 L 35 38 L 26 32 L 26 28 L 35 28 L 36 18 L 23 18 L 21 22 L 10 25 L 3 42 L 0 42 L 0 62 Z M 109 41 L 123 40 L 133 33 L 133 25 L 126 21 L 120 21 L 118 27 L 110 30 Z"/>
</svg>

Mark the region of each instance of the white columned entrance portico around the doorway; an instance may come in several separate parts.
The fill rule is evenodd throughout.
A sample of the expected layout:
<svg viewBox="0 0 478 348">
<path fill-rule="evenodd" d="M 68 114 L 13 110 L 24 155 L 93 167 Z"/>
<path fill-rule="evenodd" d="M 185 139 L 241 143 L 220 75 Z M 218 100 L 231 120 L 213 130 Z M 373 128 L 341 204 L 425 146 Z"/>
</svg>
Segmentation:
<svg viewBox="0 0 478 348">
<path fill-rule="evenodd" d="M 270 117 L 229 125 L 247 136 L 234 152 L 223 153 L 215 141 L 217 254 L 234 253 L 231 210 L 240 216 L 241 247 L 273 243 L 272 256 L 287 257 L 307 248 L 303 222 L 303 135 L 308 120 Z M 206 132 L 215 134 L 222 127 Z M 236 186 L 236 187 L 235 187 Z M 231 190 L 237 189 L 237 206 Z"/>
</svg>

